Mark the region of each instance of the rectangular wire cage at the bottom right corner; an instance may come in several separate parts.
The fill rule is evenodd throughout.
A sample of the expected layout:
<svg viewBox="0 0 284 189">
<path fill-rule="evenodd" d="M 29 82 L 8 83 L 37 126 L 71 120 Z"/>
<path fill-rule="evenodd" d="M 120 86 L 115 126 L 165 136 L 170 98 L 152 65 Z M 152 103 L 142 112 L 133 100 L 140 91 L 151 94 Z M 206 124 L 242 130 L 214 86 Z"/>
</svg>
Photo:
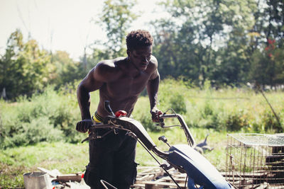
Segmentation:
<svg viewBox="0 0 284 189">
<path fill-rule="evenodd" d="M 235 188 L 284 188 L 284 134 L 228 134 L 226 180 Z"/>
</svg>

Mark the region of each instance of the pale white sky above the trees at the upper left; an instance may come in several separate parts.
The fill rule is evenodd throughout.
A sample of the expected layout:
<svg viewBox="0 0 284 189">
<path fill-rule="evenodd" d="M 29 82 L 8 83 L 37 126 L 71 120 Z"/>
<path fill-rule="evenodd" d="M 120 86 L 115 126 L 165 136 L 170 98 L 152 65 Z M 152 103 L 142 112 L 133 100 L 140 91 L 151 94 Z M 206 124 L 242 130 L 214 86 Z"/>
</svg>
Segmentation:
<svg viewBox="0 0 284 189">
<path fill-rule="evenodd" d="M 153 30 L 147 22 L 166 16 L 156 6 L 158 0 L 137 0 L 133 11 L 141 15 L 129 31 Z M 94 23 L 104 0 L 0 0 L 0 55 L 4 55 L 9 35 L 17 28 L 38 41 L 45 50 L 65 50 L 78 60 L 84 47 L 95 40 L 107 40 L 102 28 Z M 128 32 L 129 32 L 128 31 Z M 87 50 L 88 52 L 88 50 Z"/>
</svg>

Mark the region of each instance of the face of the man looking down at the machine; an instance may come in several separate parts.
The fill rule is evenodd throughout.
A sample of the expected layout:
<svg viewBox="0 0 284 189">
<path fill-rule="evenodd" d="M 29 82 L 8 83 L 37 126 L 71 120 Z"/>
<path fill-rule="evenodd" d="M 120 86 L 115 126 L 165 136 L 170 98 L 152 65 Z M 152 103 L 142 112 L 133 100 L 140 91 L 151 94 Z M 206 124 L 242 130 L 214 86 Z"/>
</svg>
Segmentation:
<svg viewBox="0 0 284 189">
<path fill-rule="evenodd" d="M 148 64 L 152 55 L 152 45 L 146 47 L 138 47 L 136 50 L 128 50 L 130 61 L 138 68 L 140 71 L 147 69 Z"/>
</svg>

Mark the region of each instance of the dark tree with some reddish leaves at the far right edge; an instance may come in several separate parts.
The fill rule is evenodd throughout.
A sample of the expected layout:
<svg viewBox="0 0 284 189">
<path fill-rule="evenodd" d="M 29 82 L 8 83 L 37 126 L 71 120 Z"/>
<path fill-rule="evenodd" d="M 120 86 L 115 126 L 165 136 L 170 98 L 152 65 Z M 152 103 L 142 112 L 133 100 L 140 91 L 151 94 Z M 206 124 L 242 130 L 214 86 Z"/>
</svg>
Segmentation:
<svg viewBox="0 0 284 189">
<path fill-rule="evenodd" d="M 284 2 L 280 0 L 258 1 L 253 31 L 258 50 L 253 53 L 249 79 L 262 86 L 284 83 L 283 37 Z"/>
</svg>

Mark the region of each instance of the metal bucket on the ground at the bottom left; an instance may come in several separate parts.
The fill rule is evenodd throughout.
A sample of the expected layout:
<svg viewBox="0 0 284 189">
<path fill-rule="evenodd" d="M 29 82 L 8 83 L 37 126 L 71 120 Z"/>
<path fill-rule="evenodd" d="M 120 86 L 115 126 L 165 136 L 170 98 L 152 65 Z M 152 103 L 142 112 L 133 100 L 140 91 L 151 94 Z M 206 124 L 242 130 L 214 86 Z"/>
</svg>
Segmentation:
<svg viewBox="0 0 284 189">
<path fill-rule="evenodd" d="M 50 189 L 52 187 L 50 177 L 44 172 L 25 173 L 23 182 L 26 189 Z"/>
</svg>

